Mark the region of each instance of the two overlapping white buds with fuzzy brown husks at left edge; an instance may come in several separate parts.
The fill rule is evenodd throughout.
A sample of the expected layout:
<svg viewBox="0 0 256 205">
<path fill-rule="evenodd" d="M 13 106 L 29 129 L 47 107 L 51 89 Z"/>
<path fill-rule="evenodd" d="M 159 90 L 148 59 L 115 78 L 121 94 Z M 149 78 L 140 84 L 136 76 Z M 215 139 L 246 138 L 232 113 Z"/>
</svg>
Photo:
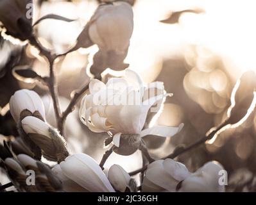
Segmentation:
<svg viewBox="0 0 256 205">
<path fill-rule="evenodd" d="M 47 124 L 44 105 L 36 92 L 15 92 L 10 99 L 10 112 L 35 159 L 40 160 L 43 155 L 47 160 L 60 162 L 69 156 L 64 138 Z"/>
</svg>

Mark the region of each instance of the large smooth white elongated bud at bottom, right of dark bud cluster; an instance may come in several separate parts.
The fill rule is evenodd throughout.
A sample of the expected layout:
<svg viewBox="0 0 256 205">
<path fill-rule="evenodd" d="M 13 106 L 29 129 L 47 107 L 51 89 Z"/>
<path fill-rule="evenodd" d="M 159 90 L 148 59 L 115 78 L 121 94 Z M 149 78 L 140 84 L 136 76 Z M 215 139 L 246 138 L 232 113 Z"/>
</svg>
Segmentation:
<svg viewBox="0 0 256 205">
<path fill-rule="evenodd" d="M 74 154 L 60 163 L 62 172 L 89 192 L 114 192 L 99 165 L 87 154 Z"/>
</svg>

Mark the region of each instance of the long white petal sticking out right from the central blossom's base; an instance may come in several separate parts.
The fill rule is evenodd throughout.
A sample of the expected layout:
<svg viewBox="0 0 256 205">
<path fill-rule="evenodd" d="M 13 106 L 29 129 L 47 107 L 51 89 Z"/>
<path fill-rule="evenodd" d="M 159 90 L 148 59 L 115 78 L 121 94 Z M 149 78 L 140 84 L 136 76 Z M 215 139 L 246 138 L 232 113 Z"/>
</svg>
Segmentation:
<svg viewBox="0 0 256 205">
<path fill-rule="evenodd" d="M 180 124 L 178 127 L 169 127 L 169 126 L 156 126 L 151 127 L 148 129 L 144 129 L 141 131 L 141 137 L 147 135 L 156 135 L 156 136 L 163 136 L 163 137 L 171 137 L 176 135 L 181 131 L 184 124 Z"/>
</svg>

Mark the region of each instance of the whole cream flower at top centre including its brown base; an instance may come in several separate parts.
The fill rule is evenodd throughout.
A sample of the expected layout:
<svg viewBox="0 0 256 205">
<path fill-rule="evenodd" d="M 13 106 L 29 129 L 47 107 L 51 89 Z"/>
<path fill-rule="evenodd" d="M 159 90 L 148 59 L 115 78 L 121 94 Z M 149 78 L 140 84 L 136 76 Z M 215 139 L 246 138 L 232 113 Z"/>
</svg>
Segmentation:
<svg viewBox="0 0 256 205">
<path fill-rule="evenodd" d="M 131 2 L 132 3 L 132 2 Z M 116 1 L 99 5 L 89 20 L 74 49 L 97 44 L 99 52 L 94 55 L 90 72 L 99 76 L 108 67 L 123 70 L 133 32 L 133 11 L 128 2 Z"/>
</svg>

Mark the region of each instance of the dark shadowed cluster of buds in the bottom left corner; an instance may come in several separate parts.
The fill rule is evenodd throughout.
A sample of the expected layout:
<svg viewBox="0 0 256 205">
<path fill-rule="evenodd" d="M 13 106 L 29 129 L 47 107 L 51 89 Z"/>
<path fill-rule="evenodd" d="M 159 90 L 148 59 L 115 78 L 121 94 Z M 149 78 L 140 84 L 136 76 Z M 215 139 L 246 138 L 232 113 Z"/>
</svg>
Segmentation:
<svg viewBox="0 0 256 205">
<path fill-rule="evenodd" d="M 19 192 L 59 192 L 62 183 L 51 168 L 26 154 L 13 155 L 12 150 L 0 145 L 0 165 Z"/>
</svg>

